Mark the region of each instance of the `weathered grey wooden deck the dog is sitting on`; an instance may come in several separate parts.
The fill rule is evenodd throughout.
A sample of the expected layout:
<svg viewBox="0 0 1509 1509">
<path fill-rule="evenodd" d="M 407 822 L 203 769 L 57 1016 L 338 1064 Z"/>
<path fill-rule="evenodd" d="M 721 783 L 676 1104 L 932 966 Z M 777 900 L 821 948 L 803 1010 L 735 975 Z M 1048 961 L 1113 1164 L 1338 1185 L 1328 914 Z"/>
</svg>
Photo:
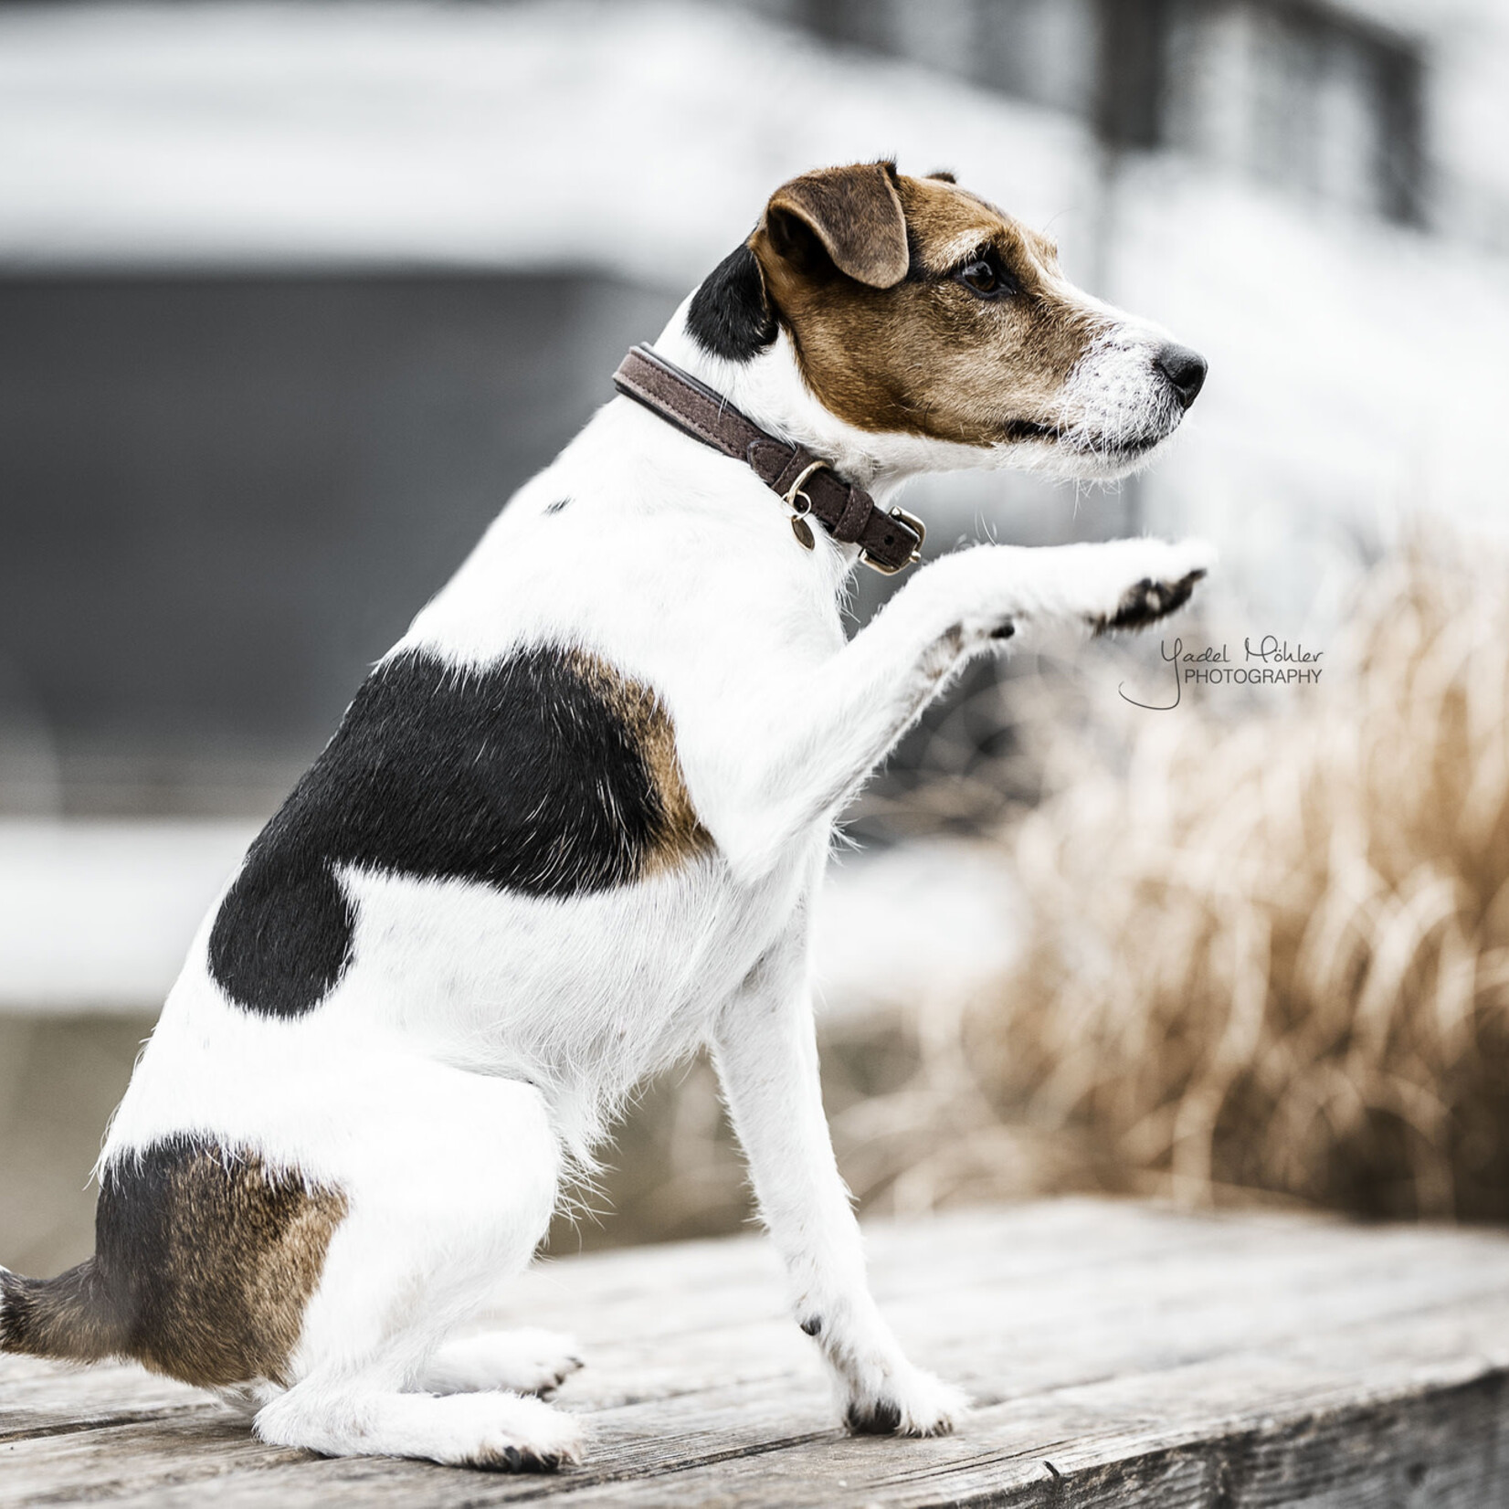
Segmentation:
<svg viewBox="0 0 1509 1509">
<path fill-rule="evenodd" d="M 552 1263 L 504 1319 L 573 1331 L 595 1431 L 557 1477 L 257 1444 L 125 1367 L 0 1360 L 0 1504 L 337 1509 L 1509 1506 L 1509 1234 L 1096 1201 L 871 1230 L 917 1361 L 978 1400 L 942 1441 L 848 1440 L 758 1239 Z"/>
</svg>

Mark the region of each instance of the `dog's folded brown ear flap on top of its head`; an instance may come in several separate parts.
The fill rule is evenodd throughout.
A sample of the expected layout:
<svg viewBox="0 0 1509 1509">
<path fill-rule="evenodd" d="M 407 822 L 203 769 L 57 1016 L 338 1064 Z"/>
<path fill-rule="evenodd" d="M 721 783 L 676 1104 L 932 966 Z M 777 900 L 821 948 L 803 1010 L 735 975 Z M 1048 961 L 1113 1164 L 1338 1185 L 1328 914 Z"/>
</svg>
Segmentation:
<svg viewBox="0 0 1509 1509">
<path fill-rule="evenodd" d="M 907 217 L 889 163 L 856 163 L 782 184 L 765 207 L 771 250 L 806 267 L 821 246 L 841 273 L 871 288 L 893 288 L 907 276 L 908 258 Z"/>
</svg>

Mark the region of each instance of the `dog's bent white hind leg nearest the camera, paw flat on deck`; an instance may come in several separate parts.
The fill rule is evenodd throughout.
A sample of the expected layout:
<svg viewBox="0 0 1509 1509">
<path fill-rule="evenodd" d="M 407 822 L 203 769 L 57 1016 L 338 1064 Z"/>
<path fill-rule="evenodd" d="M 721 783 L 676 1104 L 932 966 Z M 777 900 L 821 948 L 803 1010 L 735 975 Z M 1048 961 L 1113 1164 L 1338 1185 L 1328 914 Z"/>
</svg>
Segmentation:
<svg viewBox="0 0 1509 1509">
<path fill-rule="evenodd" d="M 498 1281 L 530 1262 L 555 1201 L 560 1150 L 531 1085 L 427 1061 L 361 1073 L 346 1121 L 349 1215 L 330 1239 L 293 1354 L 293 1387 L 257 1415 L 278 1446 L 330 1456 L 418 1456 L 486 1468 L 575 1461 L 579 1423 L 507 1391 L 506 1370 L 469 1381 L 445 1343 Z M 403 1115 L 394 1106 L 403 1105 Z M 480 1391 L 436 1396 L 432 1384 Z"/>
</svg>

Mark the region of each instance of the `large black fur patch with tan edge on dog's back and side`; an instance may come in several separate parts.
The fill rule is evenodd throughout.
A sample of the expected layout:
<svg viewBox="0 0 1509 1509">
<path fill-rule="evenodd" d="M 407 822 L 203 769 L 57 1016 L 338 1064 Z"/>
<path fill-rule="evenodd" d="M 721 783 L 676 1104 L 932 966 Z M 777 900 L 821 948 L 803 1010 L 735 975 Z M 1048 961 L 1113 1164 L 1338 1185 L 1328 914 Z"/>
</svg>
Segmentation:
<svg viewBox="0 0 1509 1509">
<path fill-rule="evenodd" d="M 626 884 L 700 842 L 667 791 L 667 747 L 653 697 L 589 656 L 546 646 L 457 670 L 397 655 L 247 851 L 210 970 L 247 1011 L 318 1005 L 352 961 L 341 865 L 528 896 Z"/>
</svg>

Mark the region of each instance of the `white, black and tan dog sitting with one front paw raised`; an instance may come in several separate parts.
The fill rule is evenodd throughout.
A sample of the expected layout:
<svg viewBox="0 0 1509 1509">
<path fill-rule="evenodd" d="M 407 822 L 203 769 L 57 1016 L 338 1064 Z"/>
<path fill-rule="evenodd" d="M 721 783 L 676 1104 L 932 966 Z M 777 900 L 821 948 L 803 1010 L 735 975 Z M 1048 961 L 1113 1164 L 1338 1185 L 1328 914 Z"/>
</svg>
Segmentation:
<svg viewBox="0 0 1509 1509">
<path fill-rule="evenodd" d="M 804 174 L 359 688 L 205 917 L 98 1165 L 97 1248 L 0 1269 L 0 1349 L 134 1358 L 267 1443 L 579 1458 L 566 1338 L 466 1335 L 649 1073 L 708 1047 L 856 1434 L 964 1417 L 871 1299 L 818 1089 L 834 821 L 973 656 L 1133 628 L 1200 543 L 908 564 L 919 472 L 1108 478 L 1206 364 L 952 175 Z M 742 448 L 742 450 L 741 450 Z"/>
</svg>

